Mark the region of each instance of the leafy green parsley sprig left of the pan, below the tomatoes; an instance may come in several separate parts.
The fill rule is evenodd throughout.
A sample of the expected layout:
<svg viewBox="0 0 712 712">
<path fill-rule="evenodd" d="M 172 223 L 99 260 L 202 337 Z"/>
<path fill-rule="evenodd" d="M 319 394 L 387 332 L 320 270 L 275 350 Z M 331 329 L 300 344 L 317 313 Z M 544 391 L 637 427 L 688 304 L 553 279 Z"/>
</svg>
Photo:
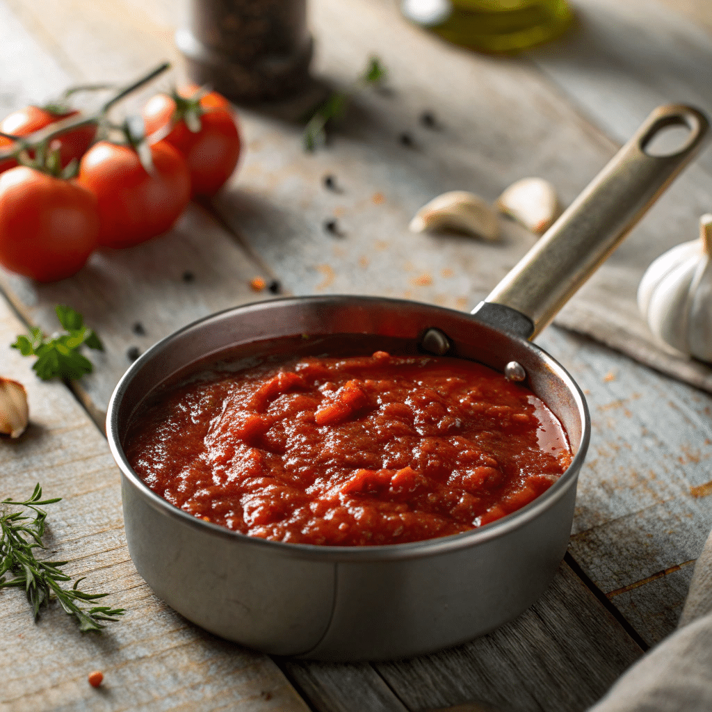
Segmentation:
<svg viewBox="0 0 712 712">
<path fill-rule="evenodd" d="M 81 355 L 82 344 L 90 349 L 104 350 L 99 337 L 84 325 L 83 316 L 65 305 L 56 308 L 59 323 L 66 330 L 65 334 L 55 334 L 46 339 L 41 329 L 30 329 L 29 337 L 19 336 L 11 346 L 23 356 L 36 356 L 32 368 L 34 372 L 48 381 L 55 376 L 60 378 L 80 378 L 94 369 L 88 358 Z"/>
</svg>

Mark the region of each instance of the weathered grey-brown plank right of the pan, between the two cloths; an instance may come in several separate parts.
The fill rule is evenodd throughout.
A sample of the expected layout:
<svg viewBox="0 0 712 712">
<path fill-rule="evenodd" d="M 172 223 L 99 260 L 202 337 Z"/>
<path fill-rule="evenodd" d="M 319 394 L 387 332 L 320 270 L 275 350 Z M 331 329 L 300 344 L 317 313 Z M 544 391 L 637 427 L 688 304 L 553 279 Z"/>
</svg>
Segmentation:
<svg viewBox="0 0 712 712">
<path fill-rule="evenodd" d="M 592 416 L 570 552 L 654 644 L 676 626 L 689 562 L 712 527 L 712 398 L 585 337 L 550 328 L 538 341 L 572 372 Z"/>
</svg>

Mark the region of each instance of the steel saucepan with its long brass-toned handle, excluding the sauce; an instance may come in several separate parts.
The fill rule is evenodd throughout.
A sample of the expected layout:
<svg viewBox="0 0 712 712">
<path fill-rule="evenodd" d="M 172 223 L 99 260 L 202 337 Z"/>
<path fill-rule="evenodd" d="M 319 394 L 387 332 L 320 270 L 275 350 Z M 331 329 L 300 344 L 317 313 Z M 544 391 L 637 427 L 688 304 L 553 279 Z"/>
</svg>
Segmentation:
<svg viewBox="0 0 712 712">
<path fill-rule="evenodd" d="M 670 125 L 687 127 L 684 145 L 651 155 L 651 142 Z M 130 555 L 155 594 L 226 639 L 322 660 L 433 651 L 489 632 L 528 608 L 565 554 L 590 434 L 579 387 L 530 339 L 689 162 L 707 130 L 706 118 L 693 108 L 655 110 L 471 315 L 407 300 L 285 298 L 212 315 L 147 350 L 115 389 L 107 431 L 121 470 Z M 123 444 L 148 394 L 196 363 L 235 349 L 256 355 L 289 350 L 299 335 L 315 344 L 329 335 L 405 340 L 519 379 L 564 425 L 572 463 L 528 506 L 481 528 L 354 548 L 235 533 L 172 506 L 132 471 Z"/>
</svg>

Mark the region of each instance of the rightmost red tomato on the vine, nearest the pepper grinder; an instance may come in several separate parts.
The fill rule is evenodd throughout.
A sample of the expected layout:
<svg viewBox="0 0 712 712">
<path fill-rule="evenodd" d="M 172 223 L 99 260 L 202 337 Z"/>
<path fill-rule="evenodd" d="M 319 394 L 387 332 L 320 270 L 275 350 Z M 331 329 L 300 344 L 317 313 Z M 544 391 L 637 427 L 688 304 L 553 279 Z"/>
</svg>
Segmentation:
<svg viewBox="0 0 712 712">
<path fill-rule="evenodd" d="M 231 176 L 240 157 L 240 133 L 230 103 L 224 96 L 211 92 L 199 101 L 189 98 L 197 87 L 188 87 L 180 95 L 188 98 L 177 106 L 174 98 L 157 94 L 145 106 L 143 120 L 146 135 L 157 132 L 172 120 L 175 124 L 164 141 L 175 147 L 190 169 L 193 195 L 214 195 Z M 177 111 L 178 109 L 178 111 Z M 200 130 L 192 132 L 183 118 L 184 112 L 196 112 Z"/>
</svg>

